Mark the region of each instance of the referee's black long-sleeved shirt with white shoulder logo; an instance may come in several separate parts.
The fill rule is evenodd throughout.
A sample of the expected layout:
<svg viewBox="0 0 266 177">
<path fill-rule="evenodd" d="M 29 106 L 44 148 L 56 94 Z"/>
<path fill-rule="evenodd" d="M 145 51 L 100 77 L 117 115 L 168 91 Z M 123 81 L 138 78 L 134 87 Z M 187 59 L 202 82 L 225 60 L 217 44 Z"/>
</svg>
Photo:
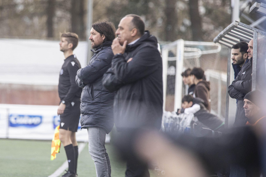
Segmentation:
<svg viewBox="0 0 266 177">
<path fill-rule="evenodd" d="M 66 104 L 80 98 L 82 89 L 75 82 L 77 70 L 80 68 L 80 62 L 75 55 L 71 55 L 64 60 L 59 75 L 58 94 L 60 100 L 64 100 Z"/>
</svg>

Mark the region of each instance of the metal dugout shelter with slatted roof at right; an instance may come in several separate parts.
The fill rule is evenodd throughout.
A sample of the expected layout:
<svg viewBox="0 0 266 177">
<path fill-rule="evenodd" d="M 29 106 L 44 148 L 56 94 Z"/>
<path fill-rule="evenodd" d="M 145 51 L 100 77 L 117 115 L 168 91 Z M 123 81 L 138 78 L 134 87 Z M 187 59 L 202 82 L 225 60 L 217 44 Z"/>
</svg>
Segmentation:
<svg viewBox="0 0 266 177">
<path fill-rule="evenodd" d="M 241 41 L 249 43 L 253 38 L 253 65 L 252 65 L 252 90 L 261 90 L 265 92 L 266 88 L 266 32 L 258 30 L 254 27 L 246 25 L 241 22 L 232 22 L 223 31 L 221 31 L 214 39 L 214 43 L 220 43 L 228 47 L 228 60 L 227 60 L 227 90 L 226 90 L 226 113 L 225 124 L 226 127 L 230 126 L 229 120 L 231 108 L 236 105 L 235 101 L 228 94 L 228 86 L 233 81 L 233 69 L 231 66 L 231 48 L 234 44 Z M 230 101 L 231 100 L 231 101 Z M 234 100 L 234 99 L 233 99 Z M 232 113 L 231 113 L 232 114 Z M 232 118 L 231 118 L 232 119 Z"/>
</svg>

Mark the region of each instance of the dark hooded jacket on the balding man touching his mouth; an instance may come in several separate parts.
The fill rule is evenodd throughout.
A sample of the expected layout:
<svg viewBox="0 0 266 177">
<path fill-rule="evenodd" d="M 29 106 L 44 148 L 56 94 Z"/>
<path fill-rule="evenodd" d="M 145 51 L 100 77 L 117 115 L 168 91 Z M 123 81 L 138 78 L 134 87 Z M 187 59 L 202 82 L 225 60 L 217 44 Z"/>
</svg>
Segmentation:
<svg viewBox="0 0 266 177">
<path fill-rule="evenodd" d="M 127 60 L 133 58 L 127 63 Z M 103 85 L 117 90 L 114 118 L 118 131 L 150 126 L 160 128 L 163 113 L 162 59 L 157 39 L 148 31 L 123 55 L 116 55 L 103 76 Z"/>
</svg>

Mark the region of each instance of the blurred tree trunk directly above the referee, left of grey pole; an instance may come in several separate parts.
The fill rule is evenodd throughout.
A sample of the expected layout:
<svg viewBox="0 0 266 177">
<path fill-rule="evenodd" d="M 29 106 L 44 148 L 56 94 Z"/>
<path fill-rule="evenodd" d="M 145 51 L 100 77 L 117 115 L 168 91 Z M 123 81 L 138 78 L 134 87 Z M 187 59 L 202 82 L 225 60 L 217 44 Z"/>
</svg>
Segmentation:
<svg viewBox="0 0 266 177">
<path fill-rule="evenodd" d="M 82 40 L 85 39 L 84 5 L 84 0 L 72 0 L 70 10 L 72 32 L 79 35 Z"/>
</svg>

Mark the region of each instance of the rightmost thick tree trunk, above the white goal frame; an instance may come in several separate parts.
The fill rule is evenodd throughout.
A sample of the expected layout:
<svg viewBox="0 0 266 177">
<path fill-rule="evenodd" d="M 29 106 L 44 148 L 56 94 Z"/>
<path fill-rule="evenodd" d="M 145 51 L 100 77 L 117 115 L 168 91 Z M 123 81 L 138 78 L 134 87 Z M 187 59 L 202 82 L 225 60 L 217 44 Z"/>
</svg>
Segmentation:
<svg viewBox="0 0 266 177">
<path fill-rule="evenodd" d="M 198 0 L 189 0 L 189 16 L 191 21 L 192 40 L 202 41 L 202 19 L 199 13 Z"/>
</svg>

